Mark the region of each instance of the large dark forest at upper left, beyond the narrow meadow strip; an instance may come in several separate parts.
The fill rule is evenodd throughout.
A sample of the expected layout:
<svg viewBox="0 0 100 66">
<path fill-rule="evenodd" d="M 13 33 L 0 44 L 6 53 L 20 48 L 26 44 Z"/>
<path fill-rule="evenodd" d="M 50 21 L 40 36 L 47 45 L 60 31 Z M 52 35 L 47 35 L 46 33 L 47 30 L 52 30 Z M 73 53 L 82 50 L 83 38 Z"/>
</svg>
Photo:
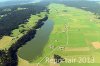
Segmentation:
<svg viewBox="0 0 100 66">
<path fill-rule="evenodd" d="M 45 11 L 44 4 L 25 4 L 0 8 L 0 36 L 10 35 L 20 24 L 28 22 L 31 15 Z"/>
</svg>

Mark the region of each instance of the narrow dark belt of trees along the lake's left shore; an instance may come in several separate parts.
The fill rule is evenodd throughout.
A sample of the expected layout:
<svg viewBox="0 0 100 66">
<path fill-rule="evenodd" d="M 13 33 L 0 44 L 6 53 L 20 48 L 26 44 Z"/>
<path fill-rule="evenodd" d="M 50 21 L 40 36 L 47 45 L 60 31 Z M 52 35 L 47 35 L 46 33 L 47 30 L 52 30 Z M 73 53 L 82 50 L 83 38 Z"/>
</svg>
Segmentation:
<svg viewBox="0 0 100 66">
<path fill-rule="evenodd" d="M 22 36 L 20 39 L 18 39 L 8 50 L 0 50 L 0 66 L 17 66 L 18 65 L 18 56 L 17 51 L 20 47 L 25 45 L 26 42 L 30 41 L 35 37 L 35 34 L 37 32 L 37 29 L 41 28 L 44 24 L 44 22 L 48 20 L 48 16 L 45 15 L 43 19 L 38 20 L 36 25 L 33 27 L 33 29 L 29 30 L 27 34 Z"/>
</svg>

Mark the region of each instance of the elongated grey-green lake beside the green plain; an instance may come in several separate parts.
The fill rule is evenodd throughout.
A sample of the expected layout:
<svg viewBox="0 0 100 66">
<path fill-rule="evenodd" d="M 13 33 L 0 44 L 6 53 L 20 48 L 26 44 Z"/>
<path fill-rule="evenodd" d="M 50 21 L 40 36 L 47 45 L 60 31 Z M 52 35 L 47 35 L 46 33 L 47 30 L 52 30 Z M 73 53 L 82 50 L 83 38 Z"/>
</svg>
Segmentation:
<svg viewBox="0 0 100 66">
<path fill-rule="evenodd" d="M 49 35 L 53 30 L 53 21 L 47 20 L 45 24 L 36 32 L 35 37 L 27 42 L 18 51 L 18 56 L 27 61 L 32 61 L 41 56 L 43 49 L 48 42 Z"/>
</svg>

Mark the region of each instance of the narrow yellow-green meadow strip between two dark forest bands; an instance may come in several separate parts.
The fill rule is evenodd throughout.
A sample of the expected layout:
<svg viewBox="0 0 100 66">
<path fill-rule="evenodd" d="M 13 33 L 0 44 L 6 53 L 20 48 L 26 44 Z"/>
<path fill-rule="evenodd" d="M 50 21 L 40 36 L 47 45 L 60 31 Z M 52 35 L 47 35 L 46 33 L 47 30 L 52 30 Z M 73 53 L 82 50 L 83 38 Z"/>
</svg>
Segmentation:
<svg viewBox="0 0 100 66">
<path fill-rule="evenodd" d="M 36 22 L 38 22 L 39 19 L 44 18 L 45 14 L 46 12 L 41 12 L 37 15 L 31 15 L 27 23 L 20 24 L 17 29 L 12 31 L 10 36 L 4 36 L 0 40 L 0 49 L 4 50 L 10 48 L 13 43 L 20 39 L 24 34 L 27 34 L 30 29 L 34 29 Z M 38 15 L 40 15 L 40 17 Z"/>
</svg>

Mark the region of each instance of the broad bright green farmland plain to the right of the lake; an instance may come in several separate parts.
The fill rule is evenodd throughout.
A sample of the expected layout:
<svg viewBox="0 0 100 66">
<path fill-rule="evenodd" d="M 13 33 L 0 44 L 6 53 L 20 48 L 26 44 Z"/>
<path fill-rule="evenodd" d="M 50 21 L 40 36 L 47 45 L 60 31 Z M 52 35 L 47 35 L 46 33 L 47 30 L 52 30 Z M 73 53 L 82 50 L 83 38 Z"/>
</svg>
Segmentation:
<svg viewBox="0 0 100 66">
<path fill-rule="evenodd" d="M 100 48 L 96 47 L 100 47 L 100 20 L 96 18 L 96 15 L 62 4 L 52 3 L 48 8 L 50 9 L 49 19 L 54 21 L 54 29 L 44 48 L 43 56 L 29 63 L 28 66 L 36 66 L 34 64 L 38 66 L 99 66 Z M 62 56 L 67 61 L 54 64 L 52 60 L 54 54 Z M 77 62 L 72 61 L 73 58 L 78 59 Z M 20 59 L 20 62 L 22 61 Z M 19 63 L 19 66 L 23 64 L 25 62 Z"/>
</svg>

